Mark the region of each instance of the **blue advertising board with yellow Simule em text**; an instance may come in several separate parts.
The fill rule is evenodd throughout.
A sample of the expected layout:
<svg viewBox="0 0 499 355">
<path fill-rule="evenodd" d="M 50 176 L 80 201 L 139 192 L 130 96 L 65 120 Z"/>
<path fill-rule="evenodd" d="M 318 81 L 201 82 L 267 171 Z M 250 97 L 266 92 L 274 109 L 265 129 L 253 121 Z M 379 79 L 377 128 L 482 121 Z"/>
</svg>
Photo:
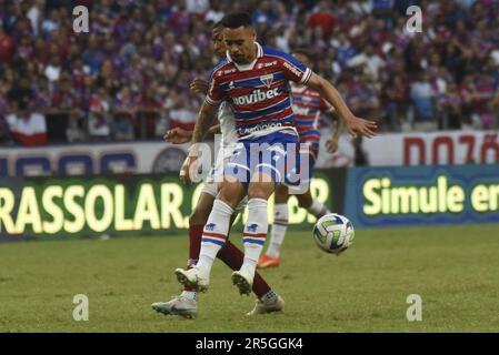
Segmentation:
<svg viewBox="0 0 499 355">
<path fill-rule="evenodd" d="M 499 165 L 350 169 L 345 203 L 360 227 L 499 222 Z"/>
</svg>

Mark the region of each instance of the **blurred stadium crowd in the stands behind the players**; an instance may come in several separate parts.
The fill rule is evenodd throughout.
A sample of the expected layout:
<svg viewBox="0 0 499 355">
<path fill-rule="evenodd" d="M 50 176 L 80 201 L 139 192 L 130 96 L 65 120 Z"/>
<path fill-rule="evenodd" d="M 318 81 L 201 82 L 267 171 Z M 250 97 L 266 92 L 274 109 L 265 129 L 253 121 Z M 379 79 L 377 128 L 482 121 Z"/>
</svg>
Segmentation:
<svg viewBox="0 0 499 355">
<path fill-rule="evenodd" d="M 73 31 L 74 6 L 89 32 Z M 407 31 L 408 7 L 422 31 Z M 0 143 L 137 140 L 192 128 L 211 26 L 252 14 L 258 41 L 307 48 L 383 131 L 499 126 L 499 0 L 0 0 Z"/>
</svg>

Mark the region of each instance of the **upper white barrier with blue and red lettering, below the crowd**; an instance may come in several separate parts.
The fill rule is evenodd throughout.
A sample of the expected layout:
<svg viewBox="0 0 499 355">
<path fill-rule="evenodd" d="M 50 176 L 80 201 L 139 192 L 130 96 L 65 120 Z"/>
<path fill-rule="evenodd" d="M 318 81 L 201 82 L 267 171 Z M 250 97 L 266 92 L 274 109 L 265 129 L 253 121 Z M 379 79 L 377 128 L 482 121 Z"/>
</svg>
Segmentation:
<svg viewBox="0 0 499 355">
<path fill-rule="evenodd" d="M 355 149 L 349 135 L 341 135 L 339 150 L 331 154 L 325 148 L 329 134 L 325 129 L 317 168 L 351 168 Z M 363 140 L 362 149 L 370 166 L 495 164 L 499 163 L 498 136 L 499 131 L 389 133 Z M 188 144 L 162 141 L 6 146 L 0 148 L 0 178 L 177 173 L 187 149 Z"/>
</svg>

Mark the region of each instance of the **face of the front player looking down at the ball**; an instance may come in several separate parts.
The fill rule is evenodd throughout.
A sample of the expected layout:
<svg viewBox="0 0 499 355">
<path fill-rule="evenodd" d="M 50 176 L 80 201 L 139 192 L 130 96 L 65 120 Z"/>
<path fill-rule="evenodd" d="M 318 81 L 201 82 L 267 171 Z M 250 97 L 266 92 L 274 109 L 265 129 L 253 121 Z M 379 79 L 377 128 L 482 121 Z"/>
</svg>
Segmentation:
<svg viewBox="0 0 499 355">
<path fill-rule="evenodd" d="M 252 28 L 223 29 L 223 41 L 230 58 L 238 64 L 248 64 L 257 57 L 256 33 Z"/>
</svg>

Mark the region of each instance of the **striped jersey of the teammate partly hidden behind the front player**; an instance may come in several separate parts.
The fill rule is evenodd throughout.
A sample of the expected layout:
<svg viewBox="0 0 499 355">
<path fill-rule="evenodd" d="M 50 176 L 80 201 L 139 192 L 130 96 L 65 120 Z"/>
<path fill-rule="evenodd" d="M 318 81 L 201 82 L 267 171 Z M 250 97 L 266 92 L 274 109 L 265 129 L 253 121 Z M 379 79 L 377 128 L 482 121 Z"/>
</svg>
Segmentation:
<svg viewBox="0 0 499 355">
<path fill-rule="evenodd" d="M 319 92 L 305 85 L 291 84 L 292 110 L 295 112 L 295 125 L 300 136 L 300 143 L 319 145 L 320 123 L 322 112 L 335 110 Z"/>
</svg>

